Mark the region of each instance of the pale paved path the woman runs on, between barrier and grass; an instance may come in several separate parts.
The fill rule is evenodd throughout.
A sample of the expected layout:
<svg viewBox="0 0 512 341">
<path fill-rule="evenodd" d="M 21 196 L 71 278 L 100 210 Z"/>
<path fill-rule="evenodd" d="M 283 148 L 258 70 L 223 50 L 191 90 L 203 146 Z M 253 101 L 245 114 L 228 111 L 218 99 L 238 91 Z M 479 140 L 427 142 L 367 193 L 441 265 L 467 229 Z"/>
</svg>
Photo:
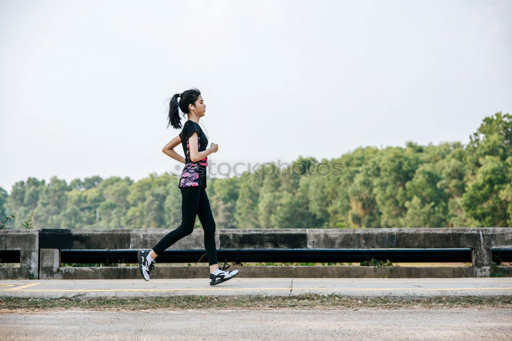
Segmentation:
<svg viewBox="0 0 512 341">
<path fill-rule="evenodd" d="M 171 295 L 290 295 L 335 293 L 346 297 L 428 298 L 512 295 L 512 278 L 233 278 L 210 286 L 208 279 L 0 280 L 0 297 L 155 297 Z"/>
</svg>

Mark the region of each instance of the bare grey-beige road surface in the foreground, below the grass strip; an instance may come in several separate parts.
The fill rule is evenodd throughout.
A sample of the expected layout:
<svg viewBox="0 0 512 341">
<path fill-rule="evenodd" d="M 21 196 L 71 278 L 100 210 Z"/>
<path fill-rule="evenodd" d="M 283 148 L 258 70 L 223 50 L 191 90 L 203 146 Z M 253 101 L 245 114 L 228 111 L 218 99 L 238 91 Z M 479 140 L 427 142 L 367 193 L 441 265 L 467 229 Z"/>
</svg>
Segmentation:
<svg viewBox="0 0 512 341">
<path fill-rule="evenodd" d="M 512 339 L 510 309 L 0 313 L 0 339 Z"/>
</svg>

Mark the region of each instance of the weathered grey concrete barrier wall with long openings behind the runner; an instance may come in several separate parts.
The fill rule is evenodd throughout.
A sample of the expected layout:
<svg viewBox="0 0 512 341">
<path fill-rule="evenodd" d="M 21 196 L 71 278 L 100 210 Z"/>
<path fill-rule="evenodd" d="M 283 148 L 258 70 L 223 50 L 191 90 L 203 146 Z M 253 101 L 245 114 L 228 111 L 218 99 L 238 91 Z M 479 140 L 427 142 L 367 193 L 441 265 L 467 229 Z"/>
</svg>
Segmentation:
<svg viewBox="0 0 512 341">
<path fill-rule="evenodd" d="M 139 279 L 138 267 L 60 267 L 60 249 L 150 249 L 170 231 L 0 230 L 1 249 L 23 250 L 22 268 L 4 268 L 0 270 L 0 276 L 18 279 L 28 278 L 33 273 L 39 279 Z M 512 229 L 217 229 L 216 246 L 217 249 L 472 249 L 473 265 L 464 267 L 231 266 L 240 269 L 243 277 L 488 277 L 492 264 L 490 249 L 512 248 Z M 196 229 L 169 249 L 204 249 L 203 230 Z M 37 267 L 38 271 L 35 270 Z M 503 268 L 506 274 L 512 274 L 512 267 Z M 156 266 L 152 278 L 202 278 L 208 274 L 208 266 Z"/>
</svg>

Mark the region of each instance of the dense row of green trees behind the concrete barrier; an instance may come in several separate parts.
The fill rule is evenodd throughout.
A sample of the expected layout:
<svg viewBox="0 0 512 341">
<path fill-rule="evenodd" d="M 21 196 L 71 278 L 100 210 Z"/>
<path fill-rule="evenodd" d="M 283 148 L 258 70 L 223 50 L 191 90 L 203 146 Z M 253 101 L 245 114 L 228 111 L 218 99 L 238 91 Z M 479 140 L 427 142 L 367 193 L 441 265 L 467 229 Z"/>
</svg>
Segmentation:
<svg viewBox="0 0 512 341">
<path fill-rule="evenodd" d="M 319 167 L 341 165 L 342 172 Z M 92 176 L 0 188 L 0 229 L 175 229 L 179 174 Z M 217 228 L 450 228 L 512 226 L 512 116 L 483 119 L 470 142 L 359 147 L 332 160 L 298 157 L 211 178 Z M 200 228 L 199 219 L 196 227 Z"/>
</svg>

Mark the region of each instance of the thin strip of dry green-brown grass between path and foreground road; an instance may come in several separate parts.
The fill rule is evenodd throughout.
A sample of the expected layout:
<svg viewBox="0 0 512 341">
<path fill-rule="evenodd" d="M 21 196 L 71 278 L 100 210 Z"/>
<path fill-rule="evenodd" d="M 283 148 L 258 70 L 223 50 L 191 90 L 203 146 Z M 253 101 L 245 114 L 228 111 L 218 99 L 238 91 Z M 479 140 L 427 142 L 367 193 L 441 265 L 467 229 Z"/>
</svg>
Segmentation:
<svg viewBox="0 0 512 341">
<path fill-rule="evenodd" d="M 152 309 L 357 309 L 357 308 L 512 308 L 512 295 L 497 298 L 435 297 L 429 299 L 348 298 L 336 294 L 301 294 L 292 296 L 222 296 L 183 295 L 152 298 L 35 299 L 0 298 L 0 310 L 152 310 Z"/>
</svg>

